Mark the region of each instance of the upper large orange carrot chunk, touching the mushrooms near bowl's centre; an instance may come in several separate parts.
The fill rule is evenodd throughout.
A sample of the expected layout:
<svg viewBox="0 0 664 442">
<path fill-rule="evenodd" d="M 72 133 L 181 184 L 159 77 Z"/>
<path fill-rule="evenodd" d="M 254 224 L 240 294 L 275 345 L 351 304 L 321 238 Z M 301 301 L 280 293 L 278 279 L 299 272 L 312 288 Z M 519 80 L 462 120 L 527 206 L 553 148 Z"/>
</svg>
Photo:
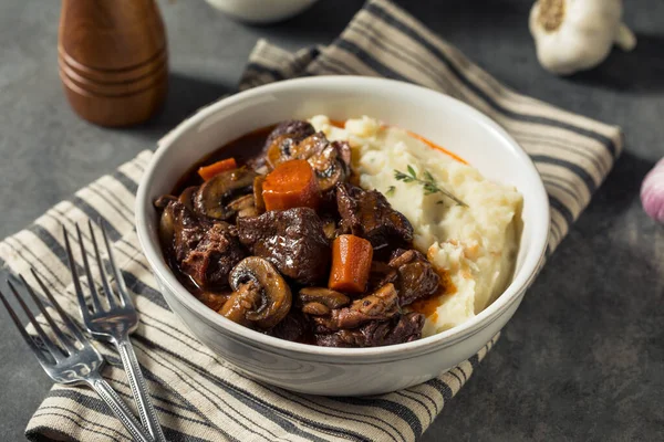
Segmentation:
<svg viewBox="0 0 664 442">
<path fill-rule="evenodd" d="M 315 175 L 304 159 L 278 165 L 262 183 L 266 210 L 287 210 L 297 207 L 318 208 L 321 200 Z"/>
</svg>

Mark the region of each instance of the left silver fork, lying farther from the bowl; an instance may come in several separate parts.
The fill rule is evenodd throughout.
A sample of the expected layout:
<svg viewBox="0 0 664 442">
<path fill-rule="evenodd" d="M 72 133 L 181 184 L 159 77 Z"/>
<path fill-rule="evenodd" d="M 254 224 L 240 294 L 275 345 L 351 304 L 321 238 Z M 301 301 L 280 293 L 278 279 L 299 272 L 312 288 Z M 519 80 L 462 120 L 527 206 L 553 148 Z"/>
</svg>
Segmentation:
<svg viewBox="0 0 664 442">
<path fill-rule="evenodd" d="M 45 309 L 43 303 L 34 293 L 32 287 L 28 284 L 28 282 L 23 278 L 23 276 L 19 275 L 19 277 L 21 278 L 21 282 L 23 283 L 28 294 L 34 301 L 34 304 L 37 304 L 37 307 L 51 326 L 53 334 L 58 338 L 56 341 L 59 341 L 59 345 L 56 345 L 55 341 L 53 341 L 53 339 L 45 334 L 44 329 L 37 322 L 34 315 L 28 305 L 25 305 L 25 302 L 21 295 L 19 295 L 19 292 L 11 281 L 7 281 L 7 284 L 9 285 L 9 288 L 19 302 L 23 312 L 25 312 L 30 323 L 32 323 L 32 326 L 39 335 L 42 346 L 39 346 L 23 328 L 21 320 L 14 313 L 2 292 L 0 292 L 0 299 L 2 301 L 2 304 L 4 304 L 4 307 L 9 312 L 13 323 L 21 333 L 21 336 L 23 336 L 23 339 L 28 346 L 30 346 L 37 356 L 37 359 L 41 364 L 44 371 L 58 383 L 87 383 L 94 391 L 96 391 L 100 398 L 106 402 L 117 419 L 120 419 L 123 425 L 125 425 L 134 440 L 141 442 L 151 442 L 152 438 L 149 434 L 145 432 L 143 427 L 141 427 L 141 423 L 138 423 L 138 421 L 136 421 L 132 414 L 132 411 L 100 373 L 104 365 L 104 358 L 102 355 L 83 335 L 79 326 L 70 319 L 60 304 L 58 304 L 55 298 L 53 298 L 53 295 L 46 285 L 37 275 L 34 270 L 31 269 L 31 272 L 42 288 L 42 292 L 46 295 L 49 302 L 53 308 L 55 308 L 60 318 L 62 319 L 64 332 L 55 324 L 53 317 Z"/>
</svg>

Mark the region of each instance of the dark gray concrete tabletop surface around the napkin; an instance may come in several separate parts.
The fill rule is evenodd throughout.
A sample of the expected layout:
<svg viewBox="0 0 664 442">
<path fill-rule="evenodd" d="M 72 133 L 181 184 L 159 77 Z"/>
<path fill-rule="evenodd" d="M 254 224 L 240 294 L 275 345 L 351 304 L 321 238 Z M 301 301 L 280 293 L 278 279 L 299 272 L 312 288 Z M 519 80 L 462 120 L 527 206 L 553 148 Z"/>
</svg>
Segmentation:
<svg viewBox="0 0 664 442">
<path fill-rule="evenodd" d="M 500 81 L 624 128 L 626 149 L 506 327 L 497 348 L 423 441 L 664 440 L 664 227 L 639 186 L 664 155 L 664 3 L 631 0 L 633 53 L 558 78 L 538 65 L 530 0 L 401 1 Z M 91 126 L 58 78 L 60 2 L 0 2 L 0 236 L 113 170 L 197 107 L 232 90 L 259 38 L 288 48 L 329 42 L 361 1 L 322 0 L 289 22 L 251 28 L 203 0 L 160 1 L 170 95 L 149 123 Z M 51 382 L 0 313 L 0 439 L 23 429 Z"/>
</svg>

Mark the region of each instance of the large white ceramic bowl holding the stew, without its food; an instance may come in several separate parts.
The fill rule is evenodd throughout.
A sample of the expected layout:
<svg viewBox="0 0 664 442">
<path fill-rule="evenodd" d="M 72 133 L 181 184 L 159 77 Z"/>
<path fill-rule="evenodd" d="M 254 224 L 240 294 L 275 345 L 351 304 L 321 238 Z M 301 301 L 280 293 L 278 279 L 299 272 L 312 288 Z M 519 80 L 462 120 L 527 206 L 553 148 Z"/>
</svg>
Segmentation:
<svg viewBox="0 0 664 442">
<path fill-rule="evenodd" d="M 198 302 L 164 261 L 153 201 L 201 157 L 253 129 L 289 118 L 370 115 L 460 155 L 486 177 L 523 194 L 520 250 L 511 284 L 473 319 L 436 336 L 375 348 L 325 348 L 266 336 Z M 542 262 L 549 206 L 530 158 L 496 123 L 454 98 L 407 83 L 353 76 L 290 80 L 234 95 L 180 124 L 157 149 L 141 182 L 136 227 L 170 308 L 206 346 L 252 378 L 314 394 L 394 391 L 434 378 L 478 351 L 519 306 Z"/>
</svg>

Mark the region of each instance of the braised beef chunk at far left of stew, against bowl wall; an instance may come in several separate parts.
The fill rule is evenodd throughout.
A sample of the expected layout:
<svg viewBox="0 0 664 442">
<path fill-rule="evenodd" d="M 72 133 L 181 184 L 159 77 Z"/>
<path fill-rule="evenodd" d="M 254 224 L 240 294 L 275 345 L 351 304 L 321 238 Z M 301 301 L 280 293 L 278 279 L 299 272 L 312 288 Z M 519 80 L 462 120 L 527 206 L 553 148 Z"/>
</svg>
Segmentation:
<svg viewBox="0 0 664 442">
<path fill-rule="evenodd" d="M 228 274 L 245 257 L 236 228 L 196 217 L 179 201 L 169 201 L 164 211 L 172 221 L 167 245 L 180 270 L 201 288 L 227 287 Z"/>
</svg>

